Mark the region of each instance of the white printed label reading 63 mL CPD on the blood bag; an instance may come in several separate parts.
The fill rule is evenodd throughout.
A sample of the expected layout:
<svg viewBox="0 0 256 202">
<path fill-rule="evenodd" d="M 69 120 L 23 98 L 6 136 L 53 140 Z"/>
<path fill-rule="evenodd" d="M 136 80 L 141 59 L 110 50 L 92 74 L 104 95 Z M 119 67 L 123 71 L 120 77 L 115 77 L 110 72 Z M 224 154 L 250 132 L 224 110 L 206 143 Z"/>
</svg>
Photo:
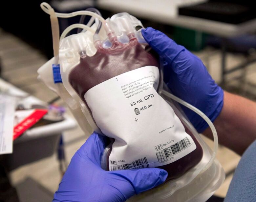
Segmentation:
<svg viewBox="0 0 256 202">
<path fill-rule="evenodd" d="M 85 93 L 97 126 L 115 139 L 110 171 L 163 166 L 196 149 L 178 116 L 157 93 L 158 85 L 159 69 L 146 66 Z"/>
</svg>

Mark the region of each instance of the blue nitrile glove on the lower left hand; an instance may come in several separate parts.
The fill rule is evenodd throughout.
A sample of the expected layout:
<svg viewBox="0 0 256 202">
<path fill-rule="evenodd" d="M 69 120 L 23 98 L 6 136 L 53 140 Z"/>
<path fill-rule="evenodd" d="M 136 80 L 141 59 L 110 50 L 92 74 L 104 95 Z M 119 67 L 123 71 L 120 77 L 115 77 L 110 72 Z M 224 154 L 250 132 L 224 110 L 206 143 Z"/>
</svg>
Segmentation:
<svg viewBox="0 0 256 202">
<path fill-rule="evenodd" d="M 53 201 L 126 201 L 134 194 L 163 183 L 167 172 L 158 168 L 104 171 L 100 159 L 106 137 L 93 133 L 74 154 Z"/>
</svg>

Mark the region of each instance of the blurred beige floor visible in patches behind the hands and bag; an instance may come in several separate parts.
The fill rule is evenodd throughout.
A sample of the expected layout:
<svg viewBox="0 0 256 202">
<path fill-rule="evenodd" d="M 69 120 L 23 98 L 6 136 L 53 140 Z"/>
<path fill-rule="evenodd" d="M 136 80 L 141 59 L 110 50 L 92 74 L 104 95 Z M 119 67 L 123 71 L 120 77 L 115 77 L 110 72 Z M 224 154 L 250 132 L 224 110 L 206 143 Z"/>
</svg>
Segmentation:
<svg viewBox="0 0 256 202">
<path fill-rule="evenodd" d="M 196 52 L 195 54 L 203 60 L 212 77 L 219 82 L 221 72 L 221 52 L 207 47 L 203 51 Z M 4 79 L 44 101 L 50 101 L 56 97 L 51 90 L 36 79 L 37 69 L 44 64 L 47 59 L 41 55 L 39 51 L 32 49 L 29 45 L 3 30 L 0 30 L 0 58 L 2 64 L 2 77 Z M 242 55 L 228 54 L 227 67 L 230 68 L 244 60 L 245 58 Z M 237 74 L 237 72 L 235 74 Z M 246 80 L 255 83 L 255 78 L 256 64 L 252 64 L 246 69 Z M 238 85 L 236 81 L 232 83 L 235 86 Z M 244 89 L 256 93 L 255 88 L 251 88 L 250 86 L 245 85 Z M 61 100 L 58 101 L 58 104 L 64 105 Z M 204 139 L 210 146 L 212 146 L 211 140 L 205 137 Z M 86 135 L 84 135 L 79 127 L 65 132 L 65 152 L 68 162 L 85 140 Z M 236 168 L 240 157 L 229 149 L 220 146 L 217 159 L 222 164 L 224 171 L 226 173 L 231 173 L 227 176 L 221 188 L 216 192 L 216 195 L 224 197 L 232 179 L 232 173 Z M 58 166 L 56 155 L 22 166 L 11 172 L 12 184 L 14 186 L 18 185 L 27 177 L 31 177 L 51 192 L 54 192 L 58 188 L 58 183 L 61 180 Z"/>
</svg>

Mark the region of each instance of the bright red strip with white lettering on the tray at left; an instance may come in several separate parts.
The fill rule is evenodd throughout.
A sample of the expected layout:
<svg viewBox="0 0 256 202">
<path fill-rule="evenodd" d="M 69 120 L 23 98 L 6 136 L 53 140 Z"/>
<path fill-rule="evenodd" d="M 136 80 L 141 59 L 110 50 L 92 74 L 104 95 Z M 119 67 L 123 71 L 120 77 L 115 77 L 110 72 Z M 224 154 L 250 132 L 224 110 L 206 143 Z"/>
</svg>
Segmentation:
<svg viewBox="0 0 256 202">
<path fill-rule="evenodd" d="M 29 116 L 27 116 L 23 121 L 14 126 L 13 129 L 13 140 L 17 139 L 23 132 L 31 128 L 35 123 L 37 123 L 48 110 L 34 110 Z"/>
</svg>

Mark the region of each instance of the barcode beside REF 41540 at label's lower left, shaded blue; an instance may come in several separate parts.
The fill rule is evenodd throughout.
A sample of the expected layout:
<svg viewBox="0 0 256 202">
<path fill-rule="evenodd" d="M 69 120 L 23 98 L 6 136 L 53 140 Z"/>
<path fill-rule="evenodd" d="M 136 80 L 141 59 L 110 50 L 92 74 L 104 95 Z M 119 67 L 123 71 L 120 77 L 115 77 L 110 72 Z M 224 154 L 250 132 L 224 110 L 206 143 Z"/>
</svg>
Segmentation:
<svg viewBox="0 0 256 202">
<path fill-rule="evenodd" d="M 117 166 L 110 166 L 111 171 L 120 171 L 120 170 L 127 170 L 127 169 L 136 169 L 136 168 L 149 168 L 147 158 L 140 158 L 136 161 L 131 163 L 126 163 Z"/>
</svg>

